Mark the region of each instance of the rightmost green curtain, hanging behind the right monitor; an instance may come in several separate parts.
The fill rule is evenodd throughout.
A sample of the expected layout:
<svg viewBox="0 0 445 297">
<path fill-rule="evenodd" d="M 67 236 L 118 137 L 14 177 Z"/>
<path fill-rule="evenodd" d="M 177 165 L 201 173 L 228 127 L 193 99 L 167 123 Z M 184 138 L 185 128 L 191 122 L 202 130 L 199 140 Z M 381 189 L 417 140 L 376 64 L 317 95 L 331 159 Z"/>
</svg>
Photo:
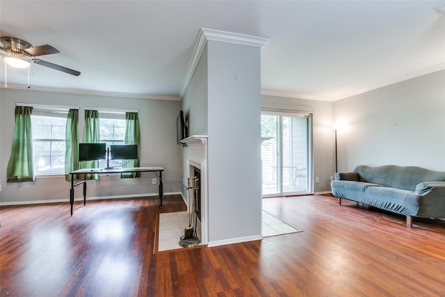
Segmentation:
<svg viewBox="0 0 445 297">
<path fill-rule="evenodd" d="M 125 113 L 125 145 L 138 145 L 138 159 L 124 160 L 122 167 L 139 167 L 140 156 L 140 130 L 138 113 Z M 126 172 L 120 175 L 121 178 L 140 177 L 140 172 Z"/>
</svg>

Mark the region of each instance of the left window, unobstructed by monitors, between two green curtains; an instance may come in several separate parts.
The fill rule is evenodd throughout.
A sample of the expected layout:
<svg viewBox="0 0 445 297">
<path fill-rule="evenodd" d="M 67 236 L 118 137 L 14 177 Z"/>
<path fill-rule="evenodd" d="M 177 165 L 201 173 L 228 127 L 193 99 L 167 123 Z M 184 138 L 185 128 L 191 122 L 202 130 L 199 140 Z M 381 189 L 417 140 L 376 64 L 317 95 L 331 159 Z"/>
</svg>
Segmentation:
<svg viewBox="0 0 445 297">
<path fill-rule="evenodd" d="M 33 162 L 35 175 L 65 173 L 67 111 L 33 109 Z"/>
</svg>

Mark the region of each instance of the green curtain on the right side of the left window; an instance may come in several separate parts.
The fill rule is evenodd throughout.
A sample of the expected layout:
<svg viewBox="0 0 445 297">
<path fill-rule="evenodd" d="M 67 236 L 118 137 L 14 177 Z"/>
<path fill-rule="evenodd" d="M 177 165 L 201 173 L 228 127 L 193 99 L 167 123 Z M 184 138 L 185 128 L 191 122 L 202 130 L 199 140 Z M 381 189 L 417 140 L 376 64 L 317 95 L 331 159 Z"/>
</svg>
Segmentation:
<svg viewBox="0 0 445 297">
<path fill-rule="evenodd" d="M 70 109 L 67 115 L 65 132 L 65 177 L 71 179 L 70 172 L 79 169 L 79 110 Z"/>
</svg>

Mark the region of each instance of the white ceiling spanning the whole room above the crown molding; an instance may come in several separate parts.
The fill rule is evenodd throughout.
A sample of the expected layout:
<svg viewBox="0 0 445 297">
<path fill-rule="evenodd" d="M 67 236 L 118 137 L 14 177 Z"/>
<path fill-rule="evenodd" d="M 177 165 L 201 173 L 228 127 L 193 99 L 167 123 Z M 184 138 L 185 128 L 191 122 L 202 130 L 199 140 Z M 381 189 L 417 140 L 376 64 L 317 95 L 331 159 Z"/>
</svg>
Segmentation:
<svg viewBox="0 0 445 297">
<path fill-rule="evenodd" d="M 0 1 L 0 35 L 60 54 L 31 89 L 179 99 L 201 28 L 269 38 L 264 95 L 333 101 L 445 69 L 444 1 Z M 443 7 L 443 6 L 442 6 Z M 0 81 L 5 81 L 1 61 Z M 27 70 L 8 67 L 8 86 Z"/>
</svg>

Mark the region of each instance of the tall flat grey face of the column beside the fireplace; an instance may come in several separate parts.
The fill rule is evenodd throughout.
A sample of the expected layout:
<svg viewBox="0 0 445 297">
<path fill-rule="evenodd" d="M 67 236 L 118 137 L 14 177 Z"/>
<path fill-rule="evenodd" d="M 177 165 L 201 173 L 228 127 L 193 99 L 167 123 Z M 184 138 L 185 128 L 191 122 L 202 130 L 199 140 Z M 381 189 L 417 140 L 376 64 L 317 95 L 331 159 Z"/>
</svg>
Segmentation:
<svg viewBox="0 0 445 297">
<path fill-rule="evenodd" d="M 261 236 L 261 49 L 207 48 L 211 245 Z"/>
</svg>

